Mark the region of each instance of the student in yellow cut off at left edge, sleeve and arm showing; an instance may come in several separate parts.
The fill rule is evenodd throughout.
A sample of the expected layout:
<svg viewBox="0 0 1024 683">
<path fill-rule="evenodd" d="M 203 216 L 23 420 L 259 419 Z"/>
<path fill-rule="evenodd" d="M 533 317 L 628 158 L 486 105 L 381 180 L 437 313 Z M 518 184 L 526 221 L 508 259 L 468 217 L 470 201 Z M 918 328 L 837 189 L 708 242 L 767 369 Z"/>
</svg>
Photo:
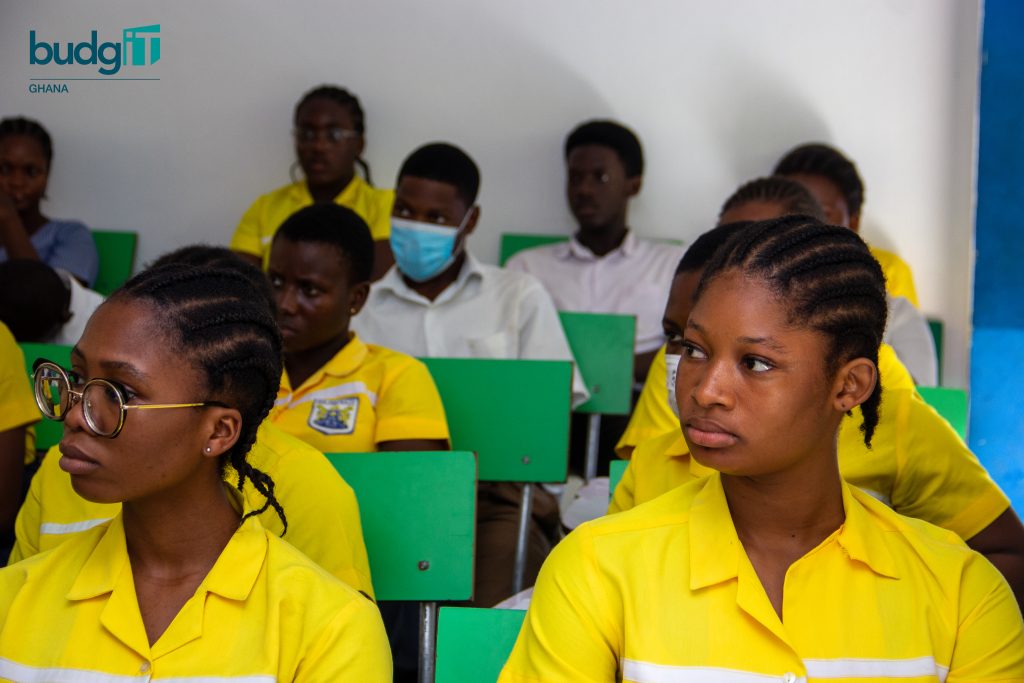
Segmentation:
<svg viewBox="0 0 1024 683">
<path fill-rule="evenodd" d="M 0 561 L 13 541 L 26 452 L 35 441 L 27 440 L 26 432 L 36 422 L 39 409 L 25 377 L 25 356 L 7 326 L 0 323 Z"/>
</svg>

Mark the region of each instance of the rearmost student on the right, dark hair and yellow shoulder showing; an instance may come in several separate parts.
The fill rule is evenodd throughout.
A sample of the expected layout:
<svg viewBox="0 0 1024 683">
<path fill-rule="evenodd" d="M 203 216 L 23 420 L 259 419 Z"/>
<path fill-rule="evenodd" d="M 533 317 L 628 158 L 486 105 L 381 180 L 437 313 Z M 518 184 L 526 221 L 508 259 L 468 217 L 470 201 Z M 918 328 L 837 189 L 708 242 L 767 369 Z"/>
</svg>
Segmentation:
<svg viewBox="0 0 1024 683">
<path fill-rule="evenodd" d="M 793 178 L 807 187 L 824 209 L 829 224 L 849 227 L 854 232 L 860 230 L 864 183 L 857 167 L 839 150 L 821 143 L 802 144 L 787 152 L 772 173 Z M 870 250 L 882 264 L 886 290 L 920 306 L 913 273 L 906 261 L 885 249 L 870 247 Z"/>
</svg>

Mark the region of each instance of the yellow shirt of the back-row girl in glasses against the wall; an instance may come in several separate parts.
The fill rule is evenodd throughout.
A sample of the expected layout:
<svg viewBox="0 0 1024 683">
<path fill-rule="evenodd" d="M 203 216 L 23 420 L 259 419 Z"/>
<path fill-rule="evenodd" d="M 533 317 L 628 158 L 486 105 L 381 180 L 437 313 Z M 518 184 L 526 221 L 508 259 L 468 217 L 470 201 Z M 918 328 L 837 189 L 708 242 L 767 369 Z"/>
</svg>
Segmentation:
<svg viewBox="0 0 1024 683">
<path fill-rule="evenodd" d="M 286 218 L 312 203 L 313 198 L 304 181 L 293 182 L 263 195 L 242 216 L 231 238 L 231 249 L 262 257 L 265 266 L 278 228 Z M 351 209 L 367 221 L 374 240 L 390 237 L 393 190 L 378 189 L 359 176 L 353 176 L 351 182 L 334 198 L 334 203 Z"/>
</svg>

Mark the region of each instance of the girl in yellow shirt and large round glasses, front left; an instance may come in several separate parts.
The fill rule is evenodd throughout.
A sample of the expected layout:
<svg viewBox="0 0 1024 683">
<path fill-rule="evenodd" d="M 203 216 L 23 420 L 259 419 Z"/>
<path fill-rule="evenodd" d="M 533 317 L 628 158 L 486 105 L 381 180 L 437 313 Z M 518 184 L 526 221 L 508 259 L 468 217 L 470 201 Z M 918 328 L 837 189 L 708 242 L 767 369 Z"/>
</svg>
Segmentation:
<svg viewBox="0 0 1024 683">
<path fill-rule="evenodd" d="M 390 680 L 373 602 L 255 519 L 273 509 L 288 527 L 248 457 L 281 357 L 249 279 L 168 265 L 96 310 L 71 369 L 38 367 L 61 469 L 122 510 L 0 570 L 0 679 Z"/>
</svg>

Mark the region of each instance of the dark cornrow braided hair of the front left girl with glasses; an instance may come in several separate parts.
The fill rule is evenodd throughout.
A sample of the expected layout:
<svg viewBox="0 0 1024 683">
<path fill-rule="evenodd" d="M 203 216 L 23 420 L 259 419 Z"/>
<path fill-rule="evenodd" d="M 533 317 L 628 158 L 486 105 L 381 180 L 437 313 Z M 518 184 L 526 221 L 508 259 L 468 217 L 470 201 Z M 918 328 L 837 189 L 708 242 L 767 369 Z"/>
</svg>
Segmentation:
<svg viewBox="0 0 1024 683">
<path fill-rule="evenodd" d="M 288 530 L 285 510 L 273 493 L 273 479 L 246 460 L 256 430 L 269 414 L 281 385 L 282 341 L 273 315 L 250 278 L 234 269 L 168 263 L 129 280 L 112 299 L 151 305 L 171 341 L 206 378 L 211 399 L 242 414 L 239 440 L 221 459 L 246 479 L 272 507 Z"/>
</svg>

